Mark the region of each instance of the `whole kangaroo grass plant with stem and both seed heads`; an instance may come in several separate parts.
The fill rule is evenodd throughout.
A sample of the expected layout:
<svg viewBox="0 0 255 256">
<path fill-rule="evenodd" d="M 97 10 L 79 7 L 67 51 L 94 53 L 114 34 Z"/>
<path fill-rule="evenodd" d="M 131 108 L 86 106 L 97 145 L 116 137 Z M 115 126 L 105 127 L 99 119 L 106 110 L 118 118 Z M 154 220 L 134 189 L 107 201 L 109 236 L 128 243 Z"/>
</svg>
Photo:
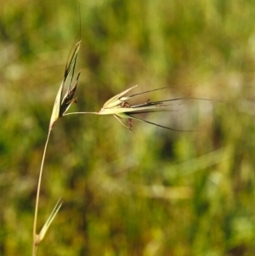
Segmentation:
<svg viewBox="0 0 255 256">
<path fill-rule="evenodd" d="M 40 189 L 41 189 L 41 183 L 42 183 L 42 170 L 45 160 L 45 155 L 47 151 L 48 146 L 48 140 L 49 136 L 51 134 L 51 131 L 54 127 L 54 123 L 58 121 L 60 117 L 65 117 L 67 115 L 74 115 L 74 114 L 95 114 L 95 115 L 113 115 L 116 117 L 118 121 L 122 123 L 126 128 L 129 128 L 132 130 L 133 127 L 133 120 L 143 121 L 150 123 L 152 125 L 156 125 L 161 128 L 167 128 L 174 131 L 180 131 L 174 128 L 168 128 L 166 126 L 162 126 L 160 124 L 157 124 L 155 122 L 150 122 L 144 119 L 141 119 L 139 117 L 134 117 L 138 114 L 143 113 L 149 113 L 149 112 L 156 112 L 156 111 L 171 111 L 171 107 L 173 107 L 173 101 L 177 100 L 207 100 L 207 99 L 201 99 L 201 98 L 178 98 L 178 99 L 170 99 L 170 100 L 158 100 L 158 101 L 150 101 L 147 100 L 144 103 L 138 104 L 138 105 L 130 105 L 127 100 L 132 99 L 135 96 L 138 96 L 140 94 L 148 94 L 151 92 L 154 92 L 156 90 L 160 90 L 163 88 L 156 88 L 153 90 L 145 91 L 143 93 L 139 94 L 133 94 L 127 96 L 126 94 L 132 90 L 133 88 L 137 87 L 137 85 L 133 86 L 132 88 L 128 88 L 127 90 L 123 91 L 120 94 L 116 94 L 114 97 L 112 97 L 110 100 L 107 100 L 105 102 L 105 105 L 101 108 L 98 112 L 71 112 L 66 113 L 66 111 L 69 109 L 71 104 L 73 102 L 76 102 L 76 99 L 74 98 L 74 95 L 77 90 L 77 83 L 80 77 L 80 71 L 77 74 L 77 78 L 75 82 L 73 82 L 73 77 L 75 74 L 75 68 L 77 64 L 77 55 L 80 49 L 81 41 L 76 44 L 76 47 L 74 48 L 71 58 L 69 61 L 67 61 L 67 64 L 65 65 L 65 73 L 64 73 L 64 79 L 60 84 L 59 91 L 56 95 L 56 99 L 54 101 L 54 107 L 52 111 L 52 115 L 49 122 L 48 127 L 48 136 L 46 139 L 46 143 L 44 146 L 44 151 L 42 154 L 42 162 L 41 162 L 41 168 L 39 173 L 39 179 L 37 184 L 37 199 L 36 199 L 36 206 L 35 206 L 35 216 L 34 216 L 34 225 L 33 225 L 33 246 L 32 246 L 32 255 L 35 256 L 37 254 L 37 248 L 40 242 L 42 242 L 42 239 L 46 235 L 49 226 L 53 222 L 56 214 L 59 212 L 59 208 L 62 205 L 61 200 L 56 203 L 52 213 L 50 213 L 48 219 L 46 220 L 45 224 L 42 226 L 42 230 L 37 234 L 37 213 L 38 213 L 38 206 L 39 206 L 39 198 L 40 198 Z M 65 95 L 63 96 L 63 91 L 65 87 L 65 83 L 67 82 L 67 78 L 70 77 L 70 82 L 68 85 L 68 88 L 66 90 Z M 179 104 L 178 104 L 179 105 Z M 128 120 L 129 126 L 126 126 L 122 122 L 122 118 L 126 118 Z M 182 130 L 185 132 L 188 132 L 190 130 Z"/>
</svg>

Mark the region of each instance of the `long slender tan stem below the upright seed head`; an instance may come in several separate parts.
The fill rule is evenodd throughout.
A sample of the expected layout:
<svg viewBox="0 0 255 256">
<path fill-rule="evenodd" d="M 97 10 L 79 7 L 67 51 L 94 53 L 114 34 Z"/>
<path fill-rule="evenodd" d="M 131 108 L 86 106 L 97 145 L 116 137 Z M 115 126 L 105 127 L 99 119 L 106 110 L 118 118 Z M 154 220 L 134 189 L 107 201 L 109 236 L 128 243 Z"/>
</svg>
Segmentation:
<svg viewBox="0 0 255 256">
<path fill-rule="evenodd" d="M 39 206 L 39 198 L 40 198 L 40 190 L 41 190 L 41 184 L 42 184 L 42 170 L 44 165 L 44 159 L 47 151 L 48 146 L 48 139 L 49 135 L 51 133 L 51 129 L 48 129 L 48 136 L 46 139 L 46 143 L 44 145 L 44 151 L 42 155 L 42 162 L 41 162 L 41 168 L 40 168 L 40 174 L 37 184 L 37 201 L 36 201 L 36 208 L 35 208 L 35 216 L 34 216 L 34 225 L 33 225 L 33 246 L 32 246 L 32 256 L 37 255 L 37 215 L 38 215 L 38 206 Z"/>
</svg>

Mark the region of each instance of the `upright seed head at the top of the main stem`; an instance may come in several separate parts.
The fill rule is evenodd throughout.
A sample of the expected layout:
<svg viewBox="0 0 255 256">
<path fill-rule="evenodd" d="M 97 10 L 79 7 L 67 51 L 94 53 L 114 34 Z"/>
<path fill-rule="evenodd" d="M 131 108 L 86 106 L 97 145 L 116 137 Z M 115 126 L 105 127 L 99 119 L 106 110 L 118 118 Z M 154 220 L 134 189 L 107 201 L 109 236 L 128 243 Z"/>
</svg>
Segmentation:
<svg viewBox="0 0 255 256">
<path fill-rule="evenodd" d="M 75 85 L 72 88 L 71 88 L 71 84 L 72 84 L 72 79 L 73 79 L 76 64 L 77 64 L 77 55 L 80 49 L 80 45 L 81 45 L 81 41 L 77 43 L 73 53 L 71 54 L 70 61 L 67 61 L 65 65 L 64 79 L 60 84 L 59 92 L 54 101 L 54 107 L 53 107 L 52 115 L 49 122 L 49 129 L 53 128 L 54 122 L 56 122 L 59 119 L 59 117 L 62 117 L 65 114 L 65 111 L 67 111 L 70 105 L 75 101 L 73 100 L 73 96 L 77 90 L 77 83 L 80 77 L 80 72 L 78 73 L 77 80 L 75 82 Z M 71 81 L 69 82 L 65 96 L 62 99 L 65 82 L 70 74 L 71 74 Z"/>
</svg>

